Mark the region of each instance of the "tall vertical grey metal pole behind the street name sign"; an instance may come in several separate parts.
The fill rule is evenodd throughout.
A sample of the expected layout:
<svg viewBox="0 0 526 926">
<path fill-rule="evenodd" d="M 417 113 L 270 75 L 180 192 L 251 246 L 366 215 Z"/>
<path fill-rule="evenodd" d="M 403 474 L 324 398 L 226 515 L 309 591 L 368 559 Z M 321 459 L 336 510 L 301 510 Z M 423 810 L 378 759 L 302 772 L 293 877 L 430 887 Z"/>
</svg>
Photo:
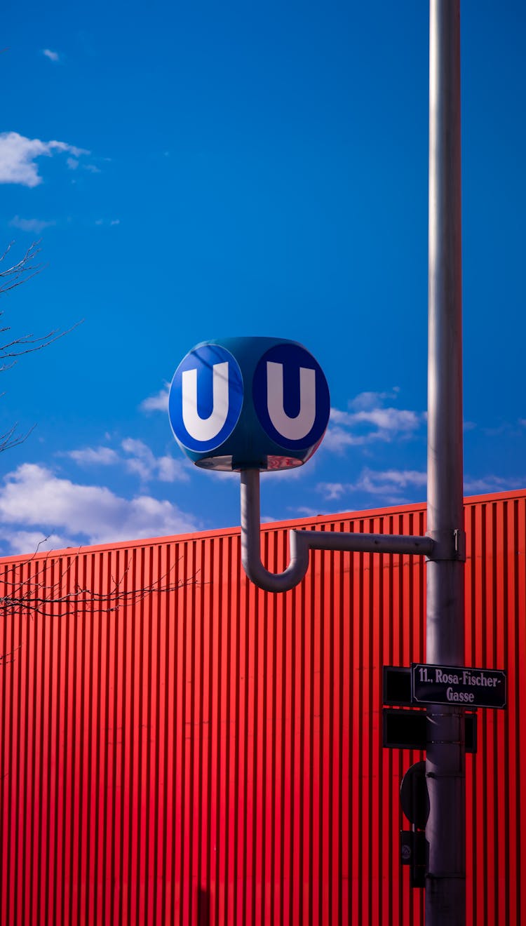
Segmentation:
<svg viewBox="0 0 526 926">
<path fill-rule="evenodd" d="M 460 4 L 430 0 L 428 663 L 464 663 Z M 466 779 L 461 708 L 430 707 L 427 926 L 466 921 Z"/>
</svg>

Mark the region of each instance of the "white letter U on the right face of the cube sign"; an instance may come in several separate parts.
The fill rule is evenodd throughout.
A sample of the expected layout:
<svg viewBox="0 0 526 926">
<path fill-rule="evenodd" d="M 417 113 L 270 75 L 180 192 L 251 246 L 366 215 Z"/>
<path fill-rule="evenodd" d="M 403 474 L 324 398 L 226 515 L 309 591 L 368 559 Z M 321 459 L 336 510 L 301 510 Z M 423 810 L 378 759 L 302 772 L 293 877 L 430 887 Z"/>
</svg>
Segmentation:
<svg viewBox="0 0 526 926">
<path fill-rule="evenodd" d="M 316 419 L 316 370 L 299 368 L 299 412 L 290 418 L 283 407 L 283 365 L 267 361 L 267 407 L 277 432 L 289 441 L 307 437 Z"/>
</svg>

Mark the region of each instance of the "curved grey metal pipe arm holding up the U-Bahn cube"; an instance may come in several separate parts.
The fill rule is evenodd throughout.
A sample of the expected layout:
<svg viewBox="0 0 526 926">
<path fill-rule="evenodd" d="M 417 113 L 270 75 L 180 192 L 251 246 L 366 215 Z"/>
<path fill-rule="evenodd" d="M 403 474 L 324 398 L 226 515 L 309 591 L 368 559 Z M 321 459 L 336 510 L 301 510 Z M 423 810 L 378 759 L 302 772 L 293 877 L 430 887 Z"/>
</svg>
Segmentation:
<svg viewBox="0 0 526 926">
<path fill-rule="evenodd" d="M 284 572 L 269 572 L 260 553 L 259 470 L 241 472 L 241 559 L 246 575 L 265 592 L 288 592 L 305 578 L 309 550 L 343 550 L 349 553 L 417 554 L 431 558 L 432 537 L 385 533 L 291 531 L 290 560 Z"/>
</svg>

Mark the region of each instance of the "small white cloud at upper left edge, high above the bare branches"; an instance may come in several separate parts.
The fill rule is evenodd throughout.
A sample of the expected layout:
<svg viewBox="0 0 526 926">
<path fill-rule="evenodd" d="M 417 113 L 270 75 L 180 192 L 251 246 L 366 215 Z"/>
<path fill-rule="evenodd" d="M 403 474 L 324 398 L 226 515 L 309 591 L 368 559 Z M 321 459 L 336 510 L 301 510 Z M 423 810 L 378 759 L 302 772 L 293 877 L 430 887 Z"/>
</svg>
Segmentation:
<svg viewBox="0 0 526 926">
<path fill-rule="evenodd" d="M 0 132 L 0 183 L 38 186 L 42 183 L 42 177 L 35 163 L 36 158 L 52 156 L 55 152 L 69 152 L 75 157 L 90 154 L 66 142 L 42 142 L 39 138 L 25 138 L 18 131 Z"/>
</svg>

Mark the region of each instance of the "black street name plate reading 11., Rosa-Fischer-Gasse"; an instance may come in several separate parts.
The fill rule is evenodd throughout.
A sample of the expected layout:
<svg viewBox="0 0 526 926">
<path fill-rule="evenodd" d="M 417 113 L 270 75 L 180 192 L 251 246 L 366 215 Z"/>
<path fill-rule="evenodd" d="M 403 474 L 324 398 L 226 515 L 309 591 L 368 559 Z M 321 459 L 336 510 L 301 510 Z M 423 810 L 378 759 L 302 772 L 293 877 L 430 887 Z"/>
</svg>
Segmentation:
<svg viewBox="0 0 526 926">
<path fill-rule="evenodd" d="M 450 704 L 457 707 L 506 707 L 504 669 L 468 669 L 413 662 L 413 704 Z"/>
</svg>

